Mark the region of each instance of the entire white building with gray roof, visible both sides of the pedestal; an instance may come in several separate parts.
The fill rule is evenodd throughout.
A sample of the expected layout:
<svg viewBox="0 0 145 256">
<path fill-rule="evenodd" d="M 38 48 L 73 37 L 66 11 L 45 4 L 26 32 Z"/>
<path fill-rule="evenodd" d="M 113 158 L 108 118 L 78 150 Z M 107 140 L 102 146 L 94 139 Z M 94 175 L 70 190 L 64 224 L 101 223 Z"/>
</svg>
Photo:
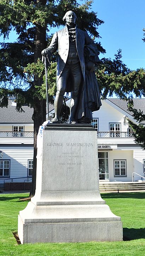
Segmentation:
<svg viewBox="0 0 145 256">
<path fill-rule="evenodd" d="M 134 99 L 134 106 L 145 112 L 145 99 Z M 13 100 L 9 100 L 8 108 L 0 108 L 1 184 L 4 180 L 27 181 L 32 174 L 33 109 L 23 106 L 25 112 L 19 113 L 15 108 Z M 92 124 L 98 132 L 100 180 L 131 182 L 133 172 L 144 176 L 145 151 L 135 144 L 128 120 L 135 122 L 126 101 L 120 99 L 103 100 L 100 110 L 93 112 Z M 134 174 L 134 181 L 141 179 L 140 176 Z"/>
</svg>

